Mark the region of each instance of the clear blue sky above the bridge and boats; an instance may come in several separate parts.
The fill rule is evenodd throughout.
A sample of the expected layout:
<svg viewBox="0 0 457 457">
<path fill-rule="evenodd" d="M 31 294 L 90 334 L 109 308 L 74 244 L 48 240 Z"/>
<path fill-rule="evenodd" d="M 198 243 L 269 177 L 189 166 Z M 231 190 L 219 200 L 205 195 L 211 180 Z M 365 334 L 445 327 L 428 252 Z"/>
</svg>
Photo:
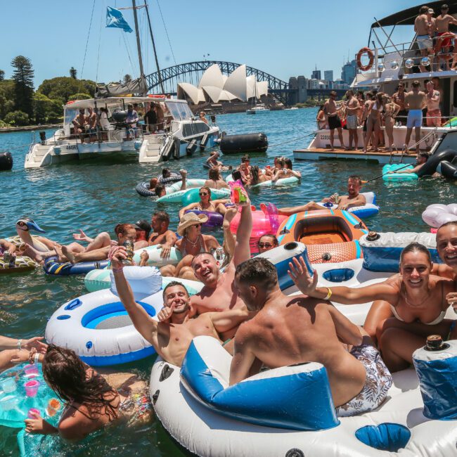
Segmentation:
<svg viewBox="0 0 457 457">
<path fill-rule="evenodd" d="M 340 77 L 348 53 L 354 58 L 366 46 L 374 16 L 379 19 L 420 6 L 416 0 L 158 1 L 174 52 L 173 58 L 157 0 L 148 0 L 162 67 L 174 65 L 174 59 L 186 63 L 210 54 L 209 60 L 246 63 L 286 81 L 290 76 L 310 77 L 315 64 L 318 70 L 333 70 L 334 77 Z M 36 87 L 43 79 L 67 76 L 72 66 L 78 77 L 96 79 L 98 72 L 98 81 L 103 82 L 126 73 L 138 75 L 134 33 L 105 28 L 106 6 L 131 6 L 129 0 L 95 0 L 82 74 L 93 5 L 94 0 L 2 1 L 0 69 L 6 77 L 11 77 L 11 60 L 18 55 L 32 60 Z M 124 17 L 133 28 L 132 12 L 124 11 Z M 140 12 L 148 74 L 155 71 L 155 63 L 144 17 Z M 401 38 L 410 41 L 411 27 L 399 28 L 404 29 Z"/>
</svg>

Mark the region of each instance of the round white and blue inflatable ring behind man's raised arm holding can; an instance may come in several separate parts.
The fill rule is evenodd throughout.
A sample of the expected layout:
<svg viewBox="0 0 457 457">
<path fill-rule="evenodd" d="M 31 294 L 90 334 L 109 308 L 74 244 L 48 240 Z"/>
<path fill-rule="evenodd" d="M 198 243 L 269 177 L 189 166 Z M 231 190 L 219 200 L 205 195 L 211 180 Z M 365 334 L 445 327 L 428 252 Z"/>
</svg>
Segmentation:
<svg viewBox="0 0 457 457">
<path fill-rule="evenodd" d="M 162 276 L 150 266 L 125 266 L 124 275 L 137 303 L 149 316 L 163 307 Z M 134 328 L 124 305 L 111 290 L 98 290 L 64 303 L 46 325 L 46 341 L 73 349 L 91 366 L 143 359 L 155 350 Z"/>
</svg>

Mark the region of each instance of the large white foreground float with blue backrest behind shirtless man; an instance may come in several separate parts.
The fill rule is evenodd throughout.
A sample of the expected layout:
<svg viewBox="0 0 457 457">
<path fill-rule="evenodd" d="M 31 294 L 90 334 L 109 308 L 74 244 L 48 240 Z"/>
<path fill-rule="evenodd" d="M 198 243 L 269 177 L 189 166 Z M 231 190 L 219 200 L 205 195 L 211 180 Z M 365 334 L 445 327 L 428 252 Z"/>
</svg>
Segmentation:
<svg viewBox="0 0 457 457">
<path fill-rule="evenodd" d="M 196 337 L 181 368 L 158 357 L 151 371 L 150 397 L 157 418 L 194 455 L 456 455 L 457 420 L 423 416 L 424 402 L 412 368 L 393 373 L 388 397 L 375 410 L 335 418 L 328 381 L 318 363 L 262 371 L 228 387 L 231 356 L 224 351 L 214 338 Z M 455 408 L 455 391 L 449 394 L 451 401 L 432 400 Z"/>
</svg>

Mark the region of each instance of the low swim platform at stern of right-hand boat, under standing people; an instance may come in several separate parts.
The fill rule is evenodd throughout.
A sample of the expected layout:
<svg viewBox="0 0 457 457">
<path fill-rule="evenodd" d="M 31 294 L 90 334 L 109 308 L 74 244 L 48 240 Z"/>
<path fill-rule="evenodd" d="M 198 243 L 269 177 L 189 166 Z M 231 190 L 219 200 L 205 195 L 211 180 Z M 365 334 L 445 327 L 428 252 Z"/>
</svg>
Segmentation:
<svg viewBox="0 0 457 457">
<path fill-rule="evenodd" d="M 363 153 L 359 150 L 345 150 L 342 148 L 306 148 L 294 150 L 296 160 L 328 160 L 328 159 L 346 159 L 346 160 L 374 160 L 376 162 L 386 163 L 414 163 L 416 162 L 416 152 L 410 150 L 408 154 L 401 150 L 394 150 L 392 153 L 387 148 L 379 148 L 377 152 L 368 150 Z"/>
</svg>

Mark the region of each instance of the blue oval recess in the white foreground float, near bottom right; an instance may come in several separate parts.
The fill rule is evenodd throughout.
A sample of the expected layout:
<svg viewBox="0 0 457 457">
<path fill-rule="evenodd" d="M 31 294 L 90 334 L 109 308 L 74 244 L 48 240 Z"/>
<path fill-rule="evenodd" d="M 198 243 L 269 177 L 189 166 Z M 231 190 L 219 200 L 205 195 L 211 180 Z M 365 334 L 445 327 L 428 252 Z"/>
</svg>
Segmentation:
<svg viewBox="0 0 457 457">
<path fill-rule="evenodd" d="M 356 438 L 380 451 L 398 452 L 408 444 L 411 432 L 404 425 L 382 423 L 359 428 L 356 430 Z"/>
</svg>

